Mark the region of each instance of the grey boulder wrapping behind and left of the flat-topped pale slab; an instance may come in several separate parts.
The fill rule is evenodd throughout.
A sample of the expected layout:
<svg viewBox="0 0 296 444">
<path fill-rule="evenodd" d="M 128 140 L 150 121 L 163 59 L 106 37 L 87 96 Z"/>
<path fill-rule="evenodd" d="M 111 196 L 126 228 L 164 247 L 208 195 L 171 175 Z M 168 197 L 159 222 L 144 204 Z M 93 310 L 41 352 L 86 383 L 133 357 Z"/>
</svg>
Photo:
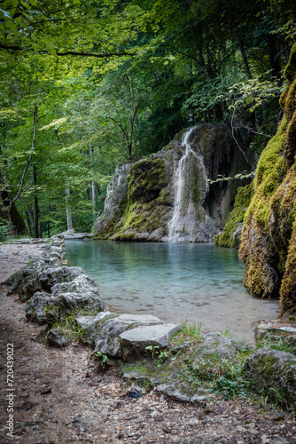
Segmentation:
<svg viewBox="0 0 296 444">
<path fill-rule="evenodd" d="M 97 329 L 95 353 L 122 358 L 121 333 L 144 325 L 158 324 L 164 324 L 164 322 L 152 314 L 121 314 L 116 318 L 108 319 Z"/>
</svg>

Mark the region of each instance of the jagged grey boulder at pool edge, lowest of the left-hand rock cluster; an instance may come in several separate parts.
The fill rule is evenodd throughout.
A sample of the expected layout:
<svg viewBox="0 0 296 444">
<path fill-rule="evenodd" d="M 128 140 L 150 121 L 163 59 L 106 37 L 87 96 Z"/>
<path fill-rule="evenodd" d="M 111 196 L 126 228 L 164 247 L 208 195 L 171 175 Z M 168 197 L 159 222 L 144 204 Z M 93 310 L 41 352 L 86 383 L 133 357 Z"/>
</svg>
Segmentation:
<svg viewBox="0 0 296 444">
<path fill-rule="evenodd" d="M 52 297 L 49 293 L 36 292 L 25 306 L 27 319 L 43 324 L 44 322 L 61 321 L 71 313 L 88 311 L 97 313 L 103 310 L 101 299 L 91 292 L 60 293 Z"/>
</svg>

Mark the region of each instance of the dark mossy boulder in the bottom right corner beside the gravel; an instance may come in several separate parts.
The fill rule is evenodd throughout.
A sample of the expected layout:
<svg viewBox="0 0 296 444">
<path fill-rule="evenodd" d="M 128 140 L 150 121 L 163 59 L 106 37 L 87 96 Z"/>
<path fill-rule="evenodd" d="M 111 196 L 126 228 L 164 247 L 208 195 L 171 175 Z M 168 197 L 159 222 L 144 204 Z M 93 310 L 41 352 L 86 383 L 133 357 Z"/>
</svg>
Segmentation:
<svg viewBox="0 0 296 444">
<path fill-rule="evenodd" d="M 254 381 L 257 389 L 264 389 L 269 398 L 284 408 L 294 408 L 296 399 L 296 356 L 267 347 L 249 356 L 243 368 L 246 379 Z M 270 390 L 269 390 L 270 389 Z"/>
</svg>

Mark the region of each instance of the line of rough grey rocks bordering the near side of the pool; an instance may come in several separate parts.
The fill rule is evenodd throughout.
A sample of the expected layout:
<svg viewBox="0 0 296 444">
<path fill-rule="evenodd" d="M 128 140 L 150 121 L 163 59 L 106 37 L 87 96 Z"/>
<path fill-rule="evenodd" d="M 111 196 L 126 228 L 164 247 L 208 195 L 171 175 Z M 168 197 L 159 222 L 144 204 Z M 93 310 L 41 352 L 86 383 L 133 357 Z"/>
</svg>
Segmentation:
<svg viewBox="0 0 296 444">
<path fill-rule="evenodd" d="M 180 370 L 182 361 L 190 361 L 191 374 L 198 379 L 211 380 L 217 369 L 222 371 L 223 361 L 237 361 L 241 365 L 244 359 L 241 374 L 246 385 L 253 384 L 257 390 L 268 391 L 270 400 L 276 400 L 287 410 L 294 408 L 295 324 L 291 321 L 262 322 L 256 329 L 259 347 L 253 351 L 244 341 L 221 332 L 200 335 L 197 340 L 188 334 L 191 328 L 186 337 L 180 332 L 183 328 L 179 324 L 167 324 L 156 316 L 106 311 L 95 281 L 82 268 L 66 266 L 63 242 L 68 236 L 86 241 L 90 235 L 66 233 L 46 240 L 48 246 L 43 248 L 43 255 L 4 281 L 11 285 L 8 294 L 17 292 L 21 301 L 27 301 L 27 320 L 45 326 L 37 340 L 63 347 L 73 340 L 69 330 L 78 330 L 76 339 L 93 350 L 102 367 L 116 367 L 123 361 L 124 377 L 149 382 L 157 392 L 193 403 L 204 402 L 214 394 L 208 388 L 197 388 L 176 376 L 175 368 Z M 264 346 L 279 341 L 283 343 L 283 350 L 278 346 Z M 175 361 L 174 347 L 180 355 L 179 361 Z M 149 365 L 154 358 L 158 358 L 160 364 L 165 363 L 158 366 L 157 377 Z M 144 371 L 143 362 L 148 364 Z"/>
</svg>

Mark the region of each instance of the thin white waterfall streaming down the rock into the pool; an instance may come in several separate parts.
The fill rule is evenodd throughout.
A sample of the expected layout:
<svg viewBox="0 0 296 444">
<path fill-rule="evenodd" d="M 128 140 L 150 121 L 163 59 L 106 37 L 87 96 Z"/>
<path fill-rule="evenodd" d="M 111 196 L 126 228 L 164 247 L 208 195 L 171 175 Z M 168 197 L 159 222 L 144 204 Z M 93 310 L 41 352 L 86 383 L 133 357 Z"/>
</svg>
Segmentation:
<svg viewBox="0 0 296 444">
<path fill-rule="evenodd" d="M 202 156 L 197 155 L 189 144 L 193 130 L 194 127 L 183 134 L 183 156 L 175 171 L 174 214 L 168 232 L 171 242 L 199 241 L 199 223 L 204 225 L 206 218 L 202 205 L 209 185 Z"/>
</svg>

